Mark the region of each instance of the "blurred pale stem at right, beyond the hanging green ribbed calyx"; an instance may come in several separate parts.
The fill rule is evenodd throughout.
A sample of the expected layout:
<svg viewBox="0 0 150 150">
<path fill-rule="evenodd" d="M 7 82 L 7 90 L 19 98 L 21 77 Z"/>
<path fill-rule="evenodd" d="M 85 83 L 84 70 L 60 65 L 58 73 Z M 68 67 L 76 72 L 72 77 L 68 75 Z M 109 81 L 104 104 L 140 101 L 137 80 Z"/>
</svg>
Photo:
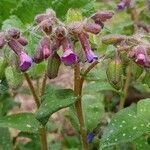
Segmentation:
<svg viewBox="0 0 150 150">
<path fill-rule="evenodd" d="M 125 100 L 126 100 L 129 85 L 130 85 L 130 80 L 131 80 L 131 64 L 129 64 L 127 68 L 127 76 L 126 76 L 126 81 L 125 81 L 124 88 L 123 88 L 124 96 L 120 99 L 120 104 L 118 108 L 119 110 L 124 108 Z"/>
</svg>

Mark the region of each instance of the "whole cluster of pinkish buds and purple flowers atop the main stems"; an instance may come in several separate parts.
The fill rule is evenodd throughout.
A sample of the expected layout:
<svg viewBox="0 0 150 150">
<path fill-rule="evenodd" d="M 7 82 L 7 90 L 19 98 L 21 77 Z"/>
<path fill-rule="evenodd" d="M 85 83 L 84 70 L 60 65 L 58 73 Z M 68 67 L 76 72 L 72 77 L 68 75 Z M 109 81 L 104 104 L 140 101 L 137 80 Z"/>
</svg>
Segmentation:
<svg viewBox="0 0 150 150">
<path fill-rule="evenodd" d="M 28 44 L 27 40 L 21 35 L 20 30 L 10 29 L 7 33 L 0 33 L 0 48 L 7 43 L 19 58 L 20 70 L 27 71 L 32 62 L 52 58 L 57 55 L 65 65 L 73 65 L 80 61 L 74 48 L 74 41 L 79 41 L 86 60 L 91 63 L 98 60 L 98 56 L 92 51 L 89 42 L 89 33 L 98 34 L 104 27 L 104 23 L 114 15 L 111 11 L 98 11 L 83 21 L 76 21 L 65 25 L 57 17 L 53 10 L 47 9 L 45 13 L 35 17 L 35 31 L 42 38 L 36 48 L 34 56 L 30 58 L 25 52 L 24 46 Z M 72 38 L 73 37 L 73 38 Z M 72 41 L 72 39 L 76 39 Z M 58 50 L 62 49 L 62 54 L 58 55 Z"/>
</svg>

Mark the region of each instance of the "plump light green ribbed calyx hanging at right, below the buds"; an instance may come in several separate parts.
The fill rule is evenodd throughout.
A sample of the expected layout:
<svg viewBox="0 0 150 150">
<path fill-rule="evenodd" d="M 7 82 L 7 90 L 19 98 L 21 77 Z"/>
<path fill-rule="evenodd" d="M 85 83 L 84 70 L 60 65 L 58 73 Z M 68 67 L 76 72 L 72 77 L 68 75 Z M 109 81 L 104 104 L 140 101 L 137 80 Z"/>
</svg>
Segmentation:
<svg viewBox="0 0 150 150">
<path fill-rule="evenodd" d="M 121 88 L 121 84 L 122 84 L 121 81 L 122 73 L 123 70 L 122 70 L 122 64 L 120 59 L 115 58 L 111 60 L 108 64 L 106 74 L 110 84 L 118 90 Z"/>
</svg>

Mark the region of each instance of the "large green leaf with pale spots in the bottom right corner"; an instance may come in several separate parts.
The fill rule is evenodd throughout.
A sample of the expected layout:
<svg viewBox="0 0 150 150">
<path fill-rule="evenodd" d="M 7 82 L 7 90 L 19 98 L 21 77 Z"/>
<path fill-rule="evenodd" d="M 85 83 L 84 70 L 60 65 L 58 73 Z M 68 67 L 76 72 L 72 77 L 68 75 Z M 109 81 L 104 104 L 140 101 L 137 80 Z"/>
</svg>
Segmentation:
<svg viewBox="0 0 150 150">
<path fill-rule="evenodd" d="M 143 99 L 137 105 L 125 108 L 112 118 L 104 131 L 101 148 L 126 143 L 150 132 L 150 99 Z"/>
</svg>

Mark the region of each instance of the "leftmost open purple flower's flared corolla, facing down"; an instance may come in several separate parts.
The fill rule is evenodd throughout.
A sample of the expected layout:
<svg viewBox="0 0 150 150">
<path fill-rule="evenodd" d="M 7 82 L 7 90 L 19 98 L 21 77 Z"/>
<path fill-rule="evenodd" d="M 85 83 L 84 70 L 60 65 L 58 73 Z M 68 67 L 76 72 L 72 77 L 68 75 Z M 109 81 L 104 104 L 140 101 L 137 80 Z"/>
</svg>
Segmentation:
<svg viewBox="0 0 150 150">
<path fill-rule="evenodd" d="M 20 70 L 22 72 L 27 71 L 32 65 L 32 59 L 25 52 L 21 52 L 18 56 L 20 60 Z"/>
</svg>

